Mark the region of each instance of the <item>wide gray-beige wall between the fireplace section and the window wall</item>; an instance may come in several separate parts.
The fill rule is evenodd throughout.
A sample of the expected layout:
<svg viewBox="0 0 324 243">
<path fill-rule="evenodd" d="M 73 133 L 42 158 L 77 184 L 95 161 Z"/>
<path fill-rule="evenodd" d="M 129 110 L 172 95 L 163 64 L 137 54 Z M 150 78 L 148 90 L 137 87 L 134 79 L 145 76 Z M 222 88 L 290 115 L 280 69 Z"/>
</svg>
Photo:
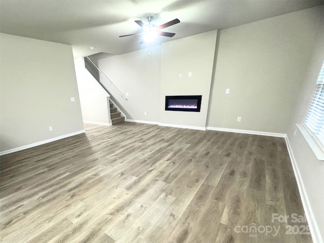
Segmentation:
<svg viewBox="0 0 324 243">
<path fill-rule="evenodd" d="M 220 31 L 209 127 L 287 133 L 313 51 L 318 11 Z"/>
</svg>

